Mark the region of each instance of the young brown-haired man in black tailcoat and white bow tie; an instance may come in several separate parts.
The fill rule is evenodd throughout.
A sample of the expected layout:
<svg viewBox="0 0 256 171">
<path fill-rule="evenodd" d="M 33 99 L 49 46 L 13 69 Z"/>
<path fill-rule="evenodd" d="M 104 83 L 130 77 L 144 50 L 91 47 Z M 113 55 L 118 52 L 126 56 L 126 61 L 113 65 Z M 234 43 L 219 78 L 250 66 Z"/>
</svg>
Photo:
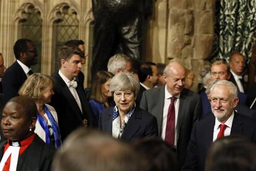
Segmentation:
<svg viewBox="0 0 256 171">
<path fill-rule="evenodd" d="M 75 80 L 82 68 L 83 52 L 76 46 L 59 50 L 59 71 L 53 73 L 54 95 L 51 105 L 56 109 L 61 139 L 77 127 L 92 125 L 92 114 L 82 84 Z"/>
</svg>

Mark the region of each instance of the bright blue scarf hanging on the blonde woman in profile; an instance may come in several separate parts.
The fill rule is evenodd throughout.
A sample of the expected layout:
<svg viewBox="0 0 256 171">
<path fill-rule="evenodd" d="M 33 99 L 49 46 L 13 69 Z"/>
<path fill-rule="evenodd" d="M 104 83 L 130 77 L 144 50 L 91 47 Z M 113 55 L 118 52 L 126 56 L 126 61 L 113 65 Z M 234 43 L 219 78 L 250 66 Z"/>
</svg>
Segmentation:
<svg viewBox="0 0 256 171">
<path fill-rule="evenodd" d="M 59 126 L 57 122 L 54 120 L 53 115 L 49 111 L 49 109 L 44 105 L 43 109 L 45 110 L 45 113 L 47 114 L 47 117 L 49 118 L 49 121 L 51 122 L 51 127 L 53 128 L 53 135 L 55 140 L 55 146 L 56 148 L 61 147 L 61 133 L 59 132 Z M 45 130 L 45 141 L 49 145 L 51 143 L 51 133 L 49 132 L 48 125 L 45 122 L 45 119 L 41 116 L 41 114 L 37 114 L 38 121 Z"/>
</svg>

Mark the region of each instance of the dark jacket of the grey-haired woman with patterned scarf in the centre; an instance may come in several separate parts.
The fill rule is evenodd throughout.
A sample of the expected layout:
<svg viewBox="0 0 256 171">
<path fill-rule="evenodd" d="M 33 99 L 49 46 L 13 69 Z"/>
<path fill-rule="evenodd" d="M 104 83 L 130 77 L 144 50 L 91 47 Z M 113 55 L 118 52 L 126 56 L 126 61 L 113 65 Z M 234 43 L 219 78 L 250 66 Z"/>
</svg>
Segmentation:
<svg viewBox="0 0 256 171">
<path fill-rule="evenodd" d="M 100 113 L 99 129 L 112 135 L 113 109 L 105 108 Z M 137 106 L 130 117 L 121 140 L 134 141 L 144 137 L 158 136 L 156 117 Z"/>
</svg>

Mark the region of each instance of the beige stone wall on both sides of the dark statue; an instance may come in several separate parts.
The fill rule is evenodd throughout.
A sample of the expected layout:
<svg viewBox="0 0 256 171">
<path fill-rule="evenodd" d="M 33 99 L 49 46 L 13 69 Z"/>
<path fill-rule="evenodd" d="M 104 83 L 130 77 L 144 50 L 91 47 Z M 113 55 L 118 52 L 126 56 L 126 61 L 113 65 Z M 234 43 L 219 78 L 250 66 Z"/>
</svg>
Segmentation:
<svg viewBox="0 0 256 171">
<path fill-rule="evenodd" d="M 153 15 L 148 18 L 145 50 L 143 60 L 155 63 L 168 63 L 171 59 L 181 60 L 187 68 L 192 69 L 197 78 L 194 90 L 200 82 L 198 71 L 205 65 L 205 59 L 211 53 L 213 44 L 214 0 L 157 0 Z M 90 74 L 90 57 L 92 57 L 93 21 L 91 0 L 12 0 L 0 1 L 0 52 L 4 54 L 6 66 L 15 58 L 12 52 L 18 38 L 20 14 L 26 4 L 40 10 L 43 19 L 42 66 L 41 72 L 51 74 L 53 70 L 54 39 L 53 22 L 58 19 L 58 12 L 64 5 L 74 9 L 79 17 L 79 39 L 85 41 L 88 61 L 83 72 L 85 86 Z M 58 10 L 59 9 L 59 10 Z"/>
</svg>

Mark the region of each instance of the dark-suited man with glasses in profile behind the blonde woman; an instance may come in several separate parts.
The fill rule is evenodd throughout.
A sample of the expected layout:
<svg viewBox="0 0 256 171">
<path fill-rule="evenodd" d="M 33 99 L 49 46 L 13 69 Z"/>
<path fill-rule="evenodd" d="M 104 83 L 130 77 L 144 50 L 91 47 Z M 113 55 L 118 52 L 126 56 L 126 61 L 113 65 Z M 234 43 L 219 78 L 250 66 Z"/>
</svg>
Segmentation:
<svg viewBox="0 0 256 171">
<path fill-rule="evenodd" d="M 2 78 L 2 92 L 5 101 L 17 96 L 21 85 L 32 74 L 30 66 L 37 63 L 35 44 L 30 39 L 19 39 L 14 44 L 16 61 L 7 68 Z"/>
</svg>

